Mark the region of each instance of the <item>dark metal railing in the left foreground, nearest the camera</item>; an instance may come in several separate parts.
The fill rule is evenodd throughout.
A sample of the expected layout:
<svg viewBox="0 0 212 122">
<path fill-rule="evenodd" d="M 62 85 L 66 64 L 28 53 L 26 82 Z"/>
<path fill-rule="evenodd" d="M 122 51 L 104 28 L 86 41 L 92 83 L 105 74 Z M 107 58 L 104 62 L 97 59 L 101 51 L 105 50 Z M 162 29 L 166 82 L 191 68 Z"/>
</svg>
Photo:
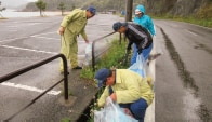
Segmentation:
<svg viewBox="0 0 212 122">
<path fill-rule="evenodd" d="M 37 64 L 34 64 L 31 66 L 28 66 L 28 67 L 25 67 L 25 68 L 22 68 L 19 70 L 16 70 L 14 72 L 11 72 L 9 74 L 5 74 L 3 77 L 0 77 L 0 83 L 2 82 L 5 82 L 10 79 L 13 79 L 22 73 L 25 73 L 29 70 L 32 70 L 39 66 L 42 66 L 47 63 L 50 63 L 56 58 L 61 57 L 63 59 L 63 67 L 64 67 L 64 78 L 58 81 L 57 83 L 55 83 L 54 85 L 52 85 L 50 89 L 45 90 L 44 92 L 42 92 L 39 96 L 37 96 L 36 98 L 34 98 L 31 100 L 31 103 L 29 103 L 27 106 L 25 106 L 24 108 L 22 108 L 19 111 L 17 111 L 16 113 L 14 113 L 13 116 L 11 116 L 10 118 L 3 120 L 3 122 L 9 122 L 9 120 L 13 119 L 15 116 L 17 116 L 19 112 L 24 111 L 26 108 L 28 108 L 29 106 L 31 106 L 34 103 L 36 103 L 37 99 L 39 99 L 41 96 L 43 96 L 45 93 L 48 93 L 50 90 L 52 90 L 53 87 L 55 87 L 57 84 L 59 84 L 62 81 L 64 81 L 64 98 L 65 100 L 68 100 L 68 69 L 67 69 L 67 59 L 65 57 L 65 55 L 63 54 L 57 54 L 55 56 L 52 56 L 50 58 L 47 58 L 47 59 L 43 59 Z"/>
</svg>

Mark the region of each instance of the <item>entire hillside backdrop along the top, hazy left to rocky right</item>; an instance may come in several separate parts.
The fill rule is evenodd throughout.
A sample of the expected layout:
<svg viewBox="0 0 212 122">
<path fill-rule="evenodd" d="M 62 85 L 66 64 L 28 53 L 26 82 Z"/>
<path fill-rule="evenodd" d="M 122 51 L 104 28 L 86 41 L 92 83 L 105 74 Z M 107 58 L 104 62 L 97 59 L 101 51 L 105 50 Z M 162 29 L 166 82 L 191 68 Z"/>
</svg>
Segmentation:
<svg viewBox="0 0 212 122">
<path fill-rule="evenodd" d="M 43 0 L 47 11 L 58 11 L 61 2 L 65 3 L 66 10 L 74 8 L 96 6 L 97 11 L 125 10 L 127 0 Z M 133 0 L 133 8 L 144 4 L 148 14 L 171 16 L 197 16 L 212 18 L 212 0 Z M 35 3 L 27 4 L 25 11 L 38 11 Z"/>
</svg>

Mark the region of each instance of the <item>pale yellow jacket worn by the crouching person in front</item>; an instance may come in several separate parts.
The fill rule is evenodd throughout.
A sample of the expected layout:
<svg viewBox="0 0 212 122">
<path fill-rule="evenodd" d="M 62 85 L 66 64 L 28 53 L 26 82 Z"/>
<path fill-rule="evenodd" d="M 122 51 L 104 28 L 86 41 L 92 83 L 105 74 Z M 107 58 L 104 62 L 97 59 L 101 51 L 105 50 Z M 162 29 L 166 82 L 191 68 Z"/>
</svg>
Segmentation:
<svg viewBox="0 0 212 122">
<path fill-rule="evenodd" d="M 148 85 L 147 79 L 143 79 L 138 73 L 129 69 L 116 70 L 116 84 L 111 89 L 117 95 L 118 104 L 134 103 L 140 98 L 144 98 L 150 105 L 154 99 L 154 93 Z M 109 86 L 106 86 L 98 99 L 98 106 L 103 107 L 108 96 Z"/>
</svg>

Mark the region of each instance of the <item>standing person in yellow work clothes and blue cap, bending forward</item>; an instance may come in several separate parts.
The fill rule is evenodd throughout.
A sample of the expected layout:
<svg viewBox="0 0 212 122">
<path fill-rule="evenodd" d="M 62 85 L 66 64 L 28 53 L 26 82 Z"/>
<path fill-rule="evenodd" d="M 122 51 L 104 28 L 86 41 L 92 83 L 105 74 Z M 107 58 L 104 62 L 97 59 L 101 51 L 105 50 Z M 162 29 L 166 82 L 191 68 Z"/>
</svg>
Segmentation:
<svg viewBox="0 0 212 122">
<path fill-rule="evenodd" d="M 81 35 L 87 43 L 89 40 L 85 33 L 87 21 L 95 15 L 95 8 L 89 6 L 87 10 L 75 9 L 70 14 L 65 16 L 58 28 L 58 32 L 62 36 L 61 53 L 70 59 L 71 69 L 82 69 L 78 65 L 78 44 L 77 36 Z M 64 72 L 63 62 L 59 63 L 59 71 Z"/>
</svg>

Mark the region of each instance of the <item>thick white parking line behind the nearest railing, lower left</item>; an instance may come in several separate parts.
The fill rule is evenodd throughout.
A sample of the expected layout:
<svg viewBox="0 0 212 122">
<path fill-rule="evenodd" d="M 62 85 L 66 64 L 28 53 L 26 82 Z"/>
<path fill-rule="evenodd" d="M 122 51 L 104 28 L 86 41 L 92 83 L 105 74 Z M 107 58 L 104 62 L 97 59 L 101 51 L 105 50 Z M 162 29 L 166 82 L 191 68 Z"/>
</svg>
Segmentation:
<svg viewBox="0 0 212 122">
<path fill-rule="evenodd" d="M 22 89 L 22 90 L 26 90 L 26 91 L 38 92 L 38 93 L 42 93 L 42 92 L 45 91 L 45 90 L 37 89 L 35 86 L 15 84 L 15 83 L 11 83 L 11 82 L 3 82 L 3 83 L 1 83 L 1 85 L 16 87 L 16 89 Z M 58 94 L 61 94 L 61 91 L 50 91 L 47 94 L 50 94 L 50 95 L 58 95 Z"/>
</svg>

